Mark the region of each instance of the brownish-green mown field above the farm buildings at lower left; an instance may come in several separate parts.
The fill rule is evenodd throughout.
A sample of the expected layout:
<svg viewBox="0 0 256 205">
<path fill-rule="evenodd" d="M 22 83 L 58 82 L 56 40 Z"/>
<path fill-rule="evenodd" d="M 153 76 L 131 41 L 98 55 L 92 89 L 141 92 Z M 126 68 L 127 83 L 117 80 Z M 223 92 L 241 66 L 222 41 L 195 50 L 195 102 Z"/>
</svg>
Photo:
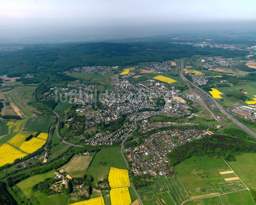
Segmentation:
<svg viewBox="0 0 256 205">
<path fill-rule="evenodd" d="M 92 158 L 93 156 L 75 156 L 61 168 L 71 177 L 83 177 Z"/>
</svg>

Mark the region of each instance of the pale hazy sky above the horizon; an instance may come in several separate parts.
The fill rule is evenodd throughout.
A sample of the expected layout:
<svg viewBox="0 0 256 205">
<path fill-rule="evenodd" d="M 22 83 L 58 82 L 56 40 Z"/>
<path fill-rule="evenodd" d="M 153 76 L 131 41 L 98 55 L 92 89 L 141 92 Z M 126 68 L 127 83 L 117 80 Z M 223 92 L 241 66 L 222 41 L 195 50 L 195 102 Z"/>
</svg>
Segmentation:
<svg viewBox="0 0 256 205">
<path fill-rule="evenodd" d="M 0 38 L 255 29 L 254 0 L 0 0 Z"/>
</svg>

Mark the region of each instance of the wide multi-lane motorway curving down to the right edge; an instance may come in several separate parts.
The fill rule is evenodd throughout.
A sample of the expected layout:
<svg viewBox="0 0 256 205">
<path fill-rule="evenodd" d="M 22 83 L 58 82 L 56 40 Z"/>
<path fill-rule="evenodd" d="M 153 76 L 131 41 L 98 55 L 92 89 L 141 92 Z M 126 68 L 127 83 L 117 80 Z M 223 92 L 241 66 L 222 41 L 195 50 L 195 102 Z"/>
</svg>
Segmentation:
<svg viewBox="0 0 256 205">
<path fill-rule="evenodd" d="M 182 80 L 184 82 L 188 82 L 190 83 L 191 85 L 193 85 L 194 87 L 196 87 L 198 90 L 200 90 L 202 93 L 204 93 L 205 95 L 207 95 L 208 97 L 210 97 L 210 99 L 216 104 L 217 108 L 230 120 L 232 120 L 236 125 L 238 125 L 241 129 L 243 129 L 244 131 L 246 131 L 248 134 L 252 135 L 253 137 L 256 138 L 256 134 L 254 132 L 252 132 L 247 126 L 245 126 L 244 124 L 240 123 L 238 120 L 236 120 L 232 115 L 230 115 L 226 110 L 224 110 L 224 108 L 222 108 L 222 106 L 207 92 L 205 92 L 204 90 L 202 90 L 200 87 L 198 87 L 197 85 L 195 85 L 194 83 L 190 82 L 188 79 L 186 79 L 184 77 L 184 74 L 183 74 L 183 67 L 184 67 L 184 61 L 187 60 L 188 58 L 186 59 L 183 59 L 181 61 L 181 69 L 180 69 L 180 77 L 182 78 Z"/>
</svg>

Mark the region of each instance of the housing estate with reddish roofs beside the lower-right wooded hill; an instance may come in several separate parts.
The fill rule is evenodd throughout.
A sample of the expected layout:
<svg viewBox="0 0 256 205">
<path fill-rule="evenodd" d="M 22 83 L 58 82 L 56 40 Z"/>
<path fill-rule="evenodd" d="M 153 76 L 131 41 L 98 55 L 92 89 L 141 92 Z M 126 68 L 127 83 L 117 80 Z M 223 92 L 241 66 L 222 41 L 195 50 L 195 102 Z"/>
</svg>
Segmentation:
<svg viewBox="0 0 256 205">
<path fill-rule="evenodd" d="M 156 123 L 159 127 L 161 123 Z M 152 126 L 149 125 L 149 129 Z M 142 128 L 140 131 L 146 131 Z M 143 131 L 143 132 L 144 132 Z M 145 142 L 137 147 L 126 149 L 126 157 L 132 162 L 132 172 L 135 175 L 152 174 L 163 175 L 173 173 L 168 160 L 168 153 L 178 145 L 199 139 L 211 131 L 197 129 L 166 130 L 150 135 Z"/>
</svg>

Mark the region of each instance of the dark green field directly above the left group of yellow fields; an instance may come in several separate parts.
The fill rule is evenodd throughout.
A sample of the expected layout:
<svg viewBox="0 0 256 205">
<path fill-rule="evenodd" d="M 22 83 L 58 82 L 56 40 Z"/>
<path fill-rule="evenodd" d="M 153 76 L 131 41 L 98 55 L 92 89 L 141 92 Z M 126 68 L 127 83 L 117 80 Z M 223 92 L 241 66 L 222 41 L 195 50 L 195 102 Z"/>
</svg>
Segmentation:
<svg viewBox="0 0 256 205">
<path fill-rule="evenodd" d="M 29 118 L 23 128 L 23 131 L 48 132 L 48 129 L 54 118 L 51 116 L 43 116 L 37 118 Z"/>
</svg>

